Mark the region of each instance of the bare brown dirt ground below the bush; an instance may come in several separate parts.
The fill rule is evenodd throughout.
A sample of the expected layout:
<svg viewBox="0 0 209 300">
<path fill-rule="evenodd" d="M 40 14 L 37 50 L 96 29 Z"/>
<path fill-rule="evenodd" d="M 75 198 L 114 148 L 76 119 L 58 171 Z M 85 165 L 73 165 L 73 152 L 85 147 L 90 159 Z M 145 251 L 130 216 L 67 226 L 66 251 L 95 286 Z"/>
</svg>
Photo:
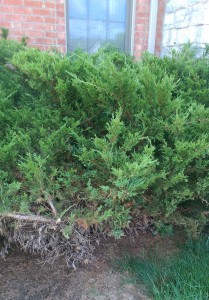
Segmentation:
<svg viewBox="0 0 209 300">
<path fill-rule="evenodd" d="M 103 241 L 93 262 L 77 271 L 62 261 L 44 265 L 39 257 L 13 250 L 0 260 L 0 300 L 148 300 L 142 287 L 128 283 L 126 274 L 118 272 L 112 262 L 155 248 L 170 251 L 174 241 L 149 234 L 135 241 L 127 237 Z"/>
</svg>

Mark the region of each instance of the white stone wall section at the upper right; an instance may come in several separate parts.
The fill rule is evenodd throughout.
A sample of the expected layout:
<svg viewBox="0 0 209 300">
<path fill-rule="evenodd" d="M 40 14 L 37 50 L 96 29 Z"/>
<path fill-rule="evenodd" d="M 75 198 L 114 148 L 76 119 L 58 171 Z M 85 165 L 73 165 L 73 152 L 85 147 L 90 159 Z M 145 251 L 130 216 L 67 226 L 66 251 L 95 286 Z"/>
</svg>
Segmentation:
<svg viewBox="0 0 209 300">
<path fill-rule="evenodd" d="M 200 51 L 209 43 L 209 0 L 167 0 L 162 55 L 191 42 Z"/>
</svg>

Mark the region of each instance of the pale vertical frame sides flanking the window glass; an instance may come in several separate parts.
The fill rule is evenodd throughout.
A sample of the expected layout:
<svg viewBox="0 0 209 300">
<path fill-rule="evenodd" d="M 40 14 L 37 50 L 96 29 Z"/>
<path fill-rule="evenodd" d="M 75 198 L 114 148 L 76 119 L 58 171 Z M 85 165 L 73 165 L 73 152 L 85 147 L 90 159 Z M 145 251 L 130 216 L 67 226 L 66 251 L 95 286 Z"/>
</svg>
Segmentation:
<svg viewBox="0 0 209 300">
<path fill-rule="evenodd" d="M 67 52 L 70 52 L 70 26 L 69 26 L 69 7 L 71 0 L 65 0 L 65 26 L 66 26 L 66 46 Z M 79 1 L 79 0 L 78 0 Z M 125 31 L 125 53 L 132 52 L 132 27 L 133 27 L 133 8 L 134 0 L 126 0 L 126 31 Z"/>
</svg>

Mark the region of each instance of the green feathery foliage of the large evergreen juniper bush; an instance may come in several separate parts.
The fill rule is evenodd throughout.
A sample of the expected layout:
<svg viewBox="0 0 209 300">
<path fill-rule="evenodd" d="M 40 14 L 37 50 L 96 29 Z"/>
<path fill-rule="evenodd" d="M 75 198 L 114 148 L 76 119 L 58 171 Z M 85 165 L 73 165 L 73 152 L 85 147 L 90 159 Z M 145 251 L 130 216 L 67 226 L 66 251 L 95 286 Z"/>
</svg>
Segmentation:
<svg viewBox="0 0 209 300">
<path fill-rule="evenodd" d="M 205 207 L 184 211 L 208 204 L 208 61 L 188 46 L 135 62 L 0 40 L 0 210 L 50 215 L 50 198 L 115 237 L 143 215 L 195 234 Z"/>
</svg>

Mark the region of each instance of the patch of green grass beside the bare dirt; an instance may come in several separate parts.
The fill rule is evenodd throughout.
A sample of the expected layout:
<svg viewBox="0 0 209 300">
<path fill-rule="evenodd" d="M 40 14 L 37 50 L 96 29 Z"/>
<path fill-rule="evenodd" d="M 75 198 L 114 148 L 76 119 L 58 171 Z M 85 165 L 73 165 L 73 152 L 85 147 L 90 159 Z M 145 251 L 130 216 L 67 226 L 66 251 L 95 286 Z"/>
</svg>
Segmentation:
<svg viewBox="0 0 209 300">
<path fill-rule="evenodd" d="M 126 257 L 120 265 L 154 300 L 209 299 L 209 240 L 190 241 L 171 257 Z"/>
</svg>

